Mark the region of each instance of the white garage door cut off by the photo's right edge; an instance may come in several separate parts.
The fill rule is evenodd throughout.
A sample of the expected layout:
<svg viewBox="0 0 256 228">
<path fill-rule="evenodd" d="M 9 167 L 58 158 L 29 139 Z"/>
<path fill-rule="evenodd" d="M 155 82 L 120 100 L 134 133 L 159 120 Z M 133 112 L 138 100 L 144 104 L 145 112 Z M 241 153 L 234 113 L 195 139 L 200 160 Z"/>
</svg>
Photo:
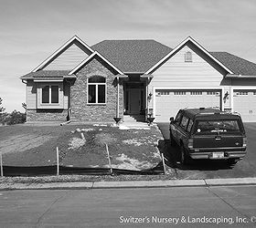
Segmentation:
<svg viewBox="0 0 256 228">
<path fill-rule="evenodd" d="M 244 122 L 256 122 L 256 89 L 234 90 L 233 104 Z"/>
</svg>

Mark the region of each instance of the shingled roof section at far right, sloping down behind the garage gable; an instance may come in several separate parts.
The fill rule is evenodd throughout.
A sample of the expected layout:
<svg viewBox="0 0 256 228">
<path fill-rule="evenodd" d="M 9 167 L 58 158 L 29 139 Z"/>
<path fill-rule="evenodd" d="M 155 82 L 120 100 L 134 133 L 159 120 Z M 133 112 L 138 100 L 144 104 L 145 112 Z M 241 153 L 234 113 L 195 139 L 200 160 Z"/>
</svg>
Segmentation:
<svg viewBox="0 0 256 228">
<path fill-rule="evenodd" d="M 210 52 L 219 62 L 228 67 L 232 72 L 243 76 L 255 76 L 256 64 L 241 57 L 236 57 L 228 52 Z"/>
</svg>

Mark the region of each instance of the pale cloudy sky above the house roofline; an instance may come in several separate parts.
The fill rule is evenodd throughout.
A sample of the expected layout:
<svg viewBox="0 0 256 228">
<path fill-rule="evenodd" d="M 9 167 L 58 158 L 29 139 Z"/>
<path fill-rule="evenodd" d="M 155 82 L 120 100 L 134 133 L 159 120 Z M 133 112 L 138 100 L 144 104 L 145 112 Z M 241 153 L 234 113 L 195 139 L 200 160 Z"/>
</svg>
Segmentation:
<svg viewBox="0 0 256 228">
<path fill-rule="evenodd" d="M 69 38 L 155 39 L 176 47 L 192 36 L 208 51 L 256 63 L 255 0 L 0 0 L 0 98 L 24 111 L 19 79 Z"/>
</svg>

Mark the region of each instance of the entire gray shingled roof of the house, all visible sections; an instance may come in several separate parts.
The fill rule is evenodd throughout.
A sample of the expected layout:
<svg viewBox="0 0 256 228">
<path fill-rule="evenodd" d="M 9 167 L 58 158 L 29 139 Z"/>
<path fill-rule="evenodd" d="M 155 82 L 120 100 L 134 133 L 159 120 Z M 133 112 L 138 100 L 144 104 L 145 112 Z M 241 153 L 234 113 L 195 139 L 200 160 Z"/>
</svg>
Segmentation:
<svg viewBox="0 0 256 228">
<path fill-rule="evenodd" d="M 104 40 L 91 47 L 123 72 L 142 72 L 153 67 L 173 49 L 155 40 Z M 256 76 L 256 64 L 228 52 L 209 52 L 232 72 L 243 76 Z M 71 70 L 71 69 L 70 69 Z M 62 78 L 70 70 L 39 70 L 27 78 Z"/>
</svg>

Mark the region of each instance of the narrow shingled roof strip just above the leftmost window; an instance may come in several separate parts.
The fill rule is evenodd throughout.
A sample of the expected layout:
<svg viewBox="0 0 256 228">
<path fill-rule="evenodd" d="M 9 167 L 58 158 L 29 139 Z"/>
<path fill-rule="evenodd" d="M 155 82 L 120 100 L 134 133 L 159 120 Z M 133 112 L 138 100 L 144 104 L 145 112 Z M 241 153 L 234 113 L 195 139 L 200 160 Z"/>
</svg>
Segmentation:
<svg viewBox="0 0 256 228">
<path fill-rule="evenodd" d="M 63 78 L 63 76 L 66 76 L 69 74 L 70 70 L 38 70 L 37 72 L 30 72 L 25 76 L 22 76 L 23 78 Z"/>
</svg>

